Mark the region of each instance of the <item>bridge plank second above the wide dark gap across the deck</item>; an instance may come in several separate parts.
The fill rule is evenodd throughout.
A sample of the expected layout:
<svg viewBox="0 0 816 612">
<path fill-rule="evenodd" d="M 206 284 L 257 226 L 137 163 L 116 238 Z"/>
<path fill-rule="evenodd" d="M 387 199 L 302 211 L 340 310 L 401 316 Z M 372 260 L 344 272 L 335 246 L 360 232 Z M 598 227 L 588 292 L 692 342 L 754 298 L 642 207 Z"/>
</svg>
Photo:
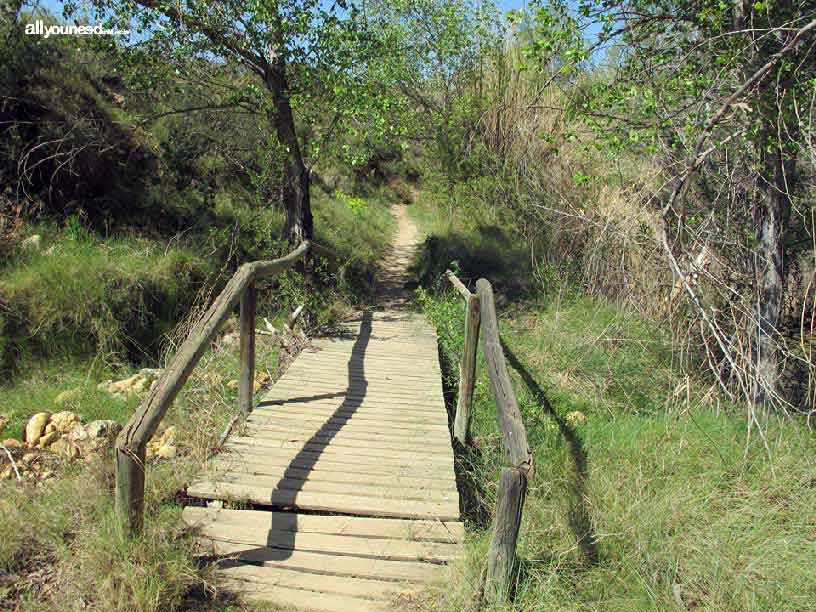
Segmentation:
<svg viewBox="0 0 816 612">
<path fill-rule="evenodd" d="M 410 499 L 417 501 L 457 502 L 459 493 L 455 487 L 434 487 L 428 481 L 421 485 L 405 484 L 394 481 L 390 485 L 363 484 L 336 482 L 329 479 L 303 479 L 289 475 L 283 478 L 252 477 L 237 474 L 211 474 L 192 483 L 188 491 L 196 491 L 201 487 L 217 486 L 221 484 L 246 485 L 255 489 L 270 491 L 294 491 L 297 493 L 336 493 L 338 495 L 354 495 L 360 497 L 381 497 L 388 499 Z"/>
</svg>

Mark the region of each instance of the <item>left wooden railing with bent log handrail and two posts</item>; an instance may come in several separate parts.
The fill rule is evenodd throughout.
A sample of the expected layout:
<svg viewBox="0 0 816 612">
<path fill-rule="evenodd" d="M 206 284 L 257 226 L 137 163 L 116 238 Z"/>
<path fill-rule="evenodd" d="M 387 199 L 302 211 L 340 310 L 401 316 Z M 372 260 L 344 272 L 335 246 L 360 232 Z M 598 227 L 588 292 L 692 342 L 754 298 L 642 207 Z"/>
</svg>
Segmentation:
<svg viewBox="0 0 816 612">
<path fill-rule="evenodd" d="M 243 264 L 224 290 L 195 324 L 186 340 L 145 396 L 116 439 L 116 514 L 125 534 L 137 536 L 144 525 L 145 451 L 167 410 L 218 330 L 240 301 L 241 366 L 238 378 L 238 407 L 246 415 L 252 410 L 255 377 L 255 286 L 257 279 L 271 278 L 291 268 L 308 253 L 336 260 L 332 251 L 314 242 L 303 242 L 280 259 Z"/>
</svg>

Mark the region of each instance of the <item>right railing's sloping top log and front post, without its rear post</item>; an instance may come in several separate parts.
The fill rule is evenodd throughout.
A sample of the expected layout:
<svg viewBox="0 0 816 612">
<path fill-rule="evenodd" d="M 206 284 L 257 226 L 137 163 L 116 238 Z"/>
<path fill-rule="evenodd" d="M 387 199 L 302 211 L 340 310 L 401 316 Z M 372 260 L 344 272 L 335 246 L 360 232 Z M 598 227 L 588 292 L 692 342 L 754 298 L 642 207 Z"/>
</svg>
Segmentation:
<svg viewBox="0 0 816 612">
<path fill-rule="evenodd" d="M 494 599 L 506 600 L 516 571 L 516 541 L 533 457 L 501 348 L 493 288 L 482 278 L 477 281 L 476 289 L 481 301 L 482 338 L 490 388 L 496 400 L 496 416 L 511 465 L 502 469 L 499 480 L 493 539 L 487 560 L 487 592 Z"/>
</svg>

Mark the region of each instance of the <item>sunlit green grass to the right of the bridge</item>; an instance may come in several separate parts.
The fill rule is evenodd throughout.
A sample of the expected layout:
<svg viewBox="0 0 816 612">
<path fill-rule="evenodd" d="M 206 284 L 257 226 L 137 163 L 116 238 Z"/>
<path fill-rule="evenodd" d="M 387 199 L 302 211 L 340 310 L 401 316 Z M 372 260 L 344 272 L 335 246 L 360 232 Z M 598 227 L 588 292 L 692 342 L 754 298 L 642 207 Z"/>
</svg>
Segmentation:
<svg viewBox="0 0 816 612">
<path fill-rule="evenodd" d="M 476 252 L 502 232 L 461 220 L 443 230 L 442 240 Z M 557 272 L 528 278 L 524 293 L 502 289 L 513 287 L 508 275 L 525 273 L 466 274 L 497 281 L 535 459 L 515 602 L 496 609 L 813 609 L 816 462 L 804 423 L 768 425 L 767 448 L 756 431 L 748 439 L 739 407 L 673 367 L 660 326 L 581 297 Z M 419 298 L 455 366 L 460 299 L 441 284 Z M 503 462 L 483 363 L 475 404 L 474 448 L 460 462 L 468 550 L 434 609 L 473 609 L 478 599 Z"/>
</svg>

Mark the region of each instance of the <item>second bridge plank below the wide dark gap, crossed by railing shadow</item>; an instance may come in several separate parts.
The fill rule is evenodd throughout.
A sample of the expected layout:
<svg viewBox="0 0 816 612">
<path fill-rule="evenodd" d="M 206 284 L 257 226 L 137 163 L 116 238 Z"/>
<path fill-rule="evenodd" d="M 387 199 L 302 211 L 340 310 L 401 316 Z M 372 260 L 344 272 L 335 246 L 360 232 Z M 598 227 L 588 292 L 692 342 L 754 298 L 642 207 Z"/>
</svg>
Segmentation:
<svg viewBox="0 0 816 612">
<path fill-rule="evenodd" d="M 235 523 L 201 523 L 197 525 L 196 529 L 200 538 L 210 538 L 233 544 L 253 544 L 258 547 L 279 550 L 350 555 L 388 561 L 444 563 L 453 559 L 459 551 L 458 545 L 443 542 L 361 538 L 358 536 L 302 531 L 276 531 L 267 527 Z"/>
</svg>

